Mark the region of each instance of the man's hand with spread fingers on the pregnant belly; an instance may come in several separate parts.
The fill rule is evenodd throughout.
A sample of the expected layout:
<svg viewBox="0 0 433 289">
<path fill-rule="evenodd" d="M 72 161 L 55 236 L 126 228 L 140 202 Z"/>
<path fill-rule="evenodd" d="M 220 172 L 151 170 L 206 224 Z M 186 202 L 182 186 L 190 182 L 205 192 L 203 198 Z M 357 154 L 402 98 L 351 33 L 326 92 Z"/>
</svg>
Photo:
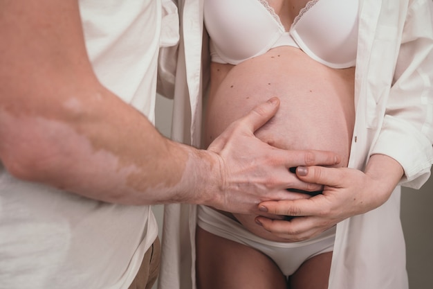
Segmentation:
<svg viewBox="0 0 433 289">
<path fill-rule="evenodd" d="M 303 182 L 289 168 L 340 162 L 333 152 L 282 150 L 257 139 L 254 132 L 275 115 L 278 107 L 278 98 L 257 105 L 211 143 L 208 151 L 215 152 L 219 159 L 221 183 L 210 206 L 234 213 L 258 213 L 257 204 L 264 200 L 306 198 L 286 188 L 317 191 L 322 186 Z"/>
</svg>

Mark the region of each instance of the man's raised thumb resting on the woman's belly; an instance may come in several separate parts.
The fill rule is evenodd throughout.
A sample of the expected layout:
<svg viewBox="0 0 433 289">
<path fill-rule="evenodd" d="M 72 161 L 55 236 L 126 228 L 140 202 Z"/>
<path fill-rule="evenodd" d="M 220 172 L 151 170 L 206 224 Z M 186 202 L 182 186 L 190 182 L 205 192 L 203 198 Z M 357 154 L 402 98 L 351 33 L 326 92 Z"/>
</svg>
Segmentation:
<svg viewBox="0 0 433 289">
<path fill-rule="evenodd" d="M 265 103 L 256 105 L 243 119 L 246 121 L 248 128 L 255 132 L 275 116 L 278 107 L 279 99 L 277 97 L 270 98 Z"/>
</svg>

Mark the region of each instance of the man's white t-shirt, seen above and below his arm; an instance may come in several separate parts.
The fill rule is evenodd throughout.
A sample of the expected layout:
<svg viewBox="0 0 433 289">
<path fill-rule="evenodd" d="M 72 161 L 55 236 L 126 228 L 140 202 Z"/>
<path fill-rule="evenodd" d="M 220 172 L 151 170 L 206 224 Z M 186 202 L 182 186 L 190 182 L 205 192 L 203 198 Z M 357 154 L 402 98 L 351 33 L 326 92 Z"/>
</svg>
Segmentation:
<svg viewBox="0 0 433 289">
<path fill-rule="evenodd" d="M 98 78 L 152 122 L 160 5 L 80 0 Z M 149 206 L 109 204 L 23 182 L 0 162 L 0 288 L 128 288 L 157 234 Z"/>
</svg>

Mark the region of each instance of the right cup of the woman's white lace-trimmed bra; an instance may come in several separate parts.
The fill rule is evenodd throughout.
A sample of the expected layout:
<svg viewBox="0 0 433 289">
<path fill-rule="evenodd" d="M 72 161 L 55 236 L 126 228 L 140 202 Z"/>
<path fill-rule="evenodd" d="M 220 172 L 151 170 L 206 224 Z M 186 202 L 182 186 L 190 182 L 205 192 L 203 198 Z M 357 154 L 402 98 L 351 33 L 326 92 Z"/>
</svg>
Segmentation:
<svg viewBox="0 0 433 289">
<path fill-rule="evenodd" d="M 344 11 L 338 13 L 338 21 L 324 17 L 335 15 L 336 10 Z M 351 67 L 358 46 L 358 3 L 320 0 L 300 17 L 290 33 L 300 49 L 318 62 L 332 68 Z"/>
</svg>

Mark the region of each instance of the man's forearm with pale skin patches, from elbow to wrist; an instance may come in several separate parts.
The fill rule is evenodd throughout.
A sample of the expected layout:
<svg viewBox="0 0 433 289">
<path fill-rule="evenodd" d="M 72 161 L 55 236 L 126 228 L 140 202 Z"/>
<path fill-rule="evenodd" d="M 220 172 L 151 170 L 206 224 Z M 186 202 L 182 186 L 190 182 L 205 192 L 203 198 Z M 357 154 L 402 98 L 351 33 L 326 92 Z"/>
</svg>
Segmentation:
<svg viewBox="0 0 433 289">
<path fill-rule="evenodd" d="M 98 200 L 198 202 L 183 186 L 194 181 L 184 175 L 187 168 L 195 178 L 210 173 L 210 163 L 200 174 L 191 171 L 207 166 L 205 158 L 199 160 L 200 152 L 165 139 L 116 96 L 102 99 L 92 104 L 71 98 L 73 112 L 66 108 L 57 117 L 2 107 L 0 155 L 5 166 L 22 179 Z"/>
</svg>

